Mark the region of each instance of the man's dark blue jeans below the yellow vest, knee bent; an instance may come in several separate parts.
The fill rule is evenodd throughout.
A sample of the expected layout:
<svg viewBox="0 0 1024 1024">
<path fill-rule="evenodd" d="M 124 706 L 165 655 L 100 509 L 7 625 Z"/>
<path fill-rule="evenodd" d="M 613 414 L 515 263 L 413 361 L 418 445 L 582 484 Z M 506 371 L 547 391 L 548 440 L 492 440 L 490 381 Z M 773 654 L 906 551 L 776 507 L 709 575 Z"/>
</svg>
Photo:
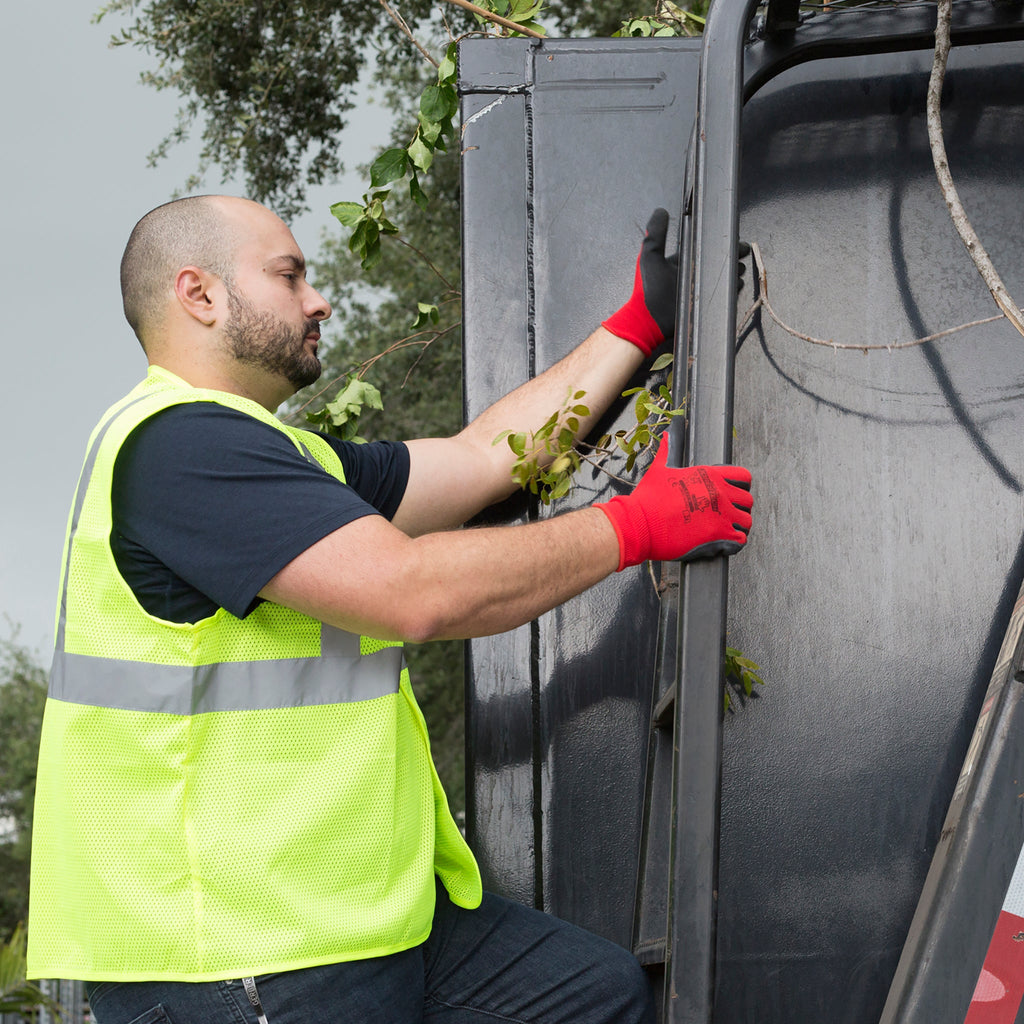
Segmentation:
<svg viewBox="0 0 1024 1024">
<path fill-rule="evenodd" d="M 430 938 L 390 956 L 262 975 L 266 1024 L 653 1024 L 621 946 L 490 893 L 476 910 L 437 886 Z M 241 980 L 92 982 L 97 1024 L 257 1024 Z"/>
</svg>

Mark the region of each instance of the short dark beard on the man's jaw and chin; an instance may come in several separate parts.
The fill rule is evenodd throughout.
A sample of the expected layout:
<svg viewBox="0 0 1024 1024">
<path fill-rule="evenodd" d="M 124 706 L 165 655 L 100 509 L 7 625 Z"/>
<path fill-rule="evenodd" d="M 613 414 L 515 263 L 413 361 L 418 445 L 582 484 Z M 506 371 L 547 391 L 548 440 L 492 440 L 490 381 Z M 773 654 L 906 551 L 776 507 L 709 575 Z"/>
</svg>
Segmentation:
<svg viewBox="0 0 1024 1024">
<path fill-rule="evenodd" d="M 319 379 L 321 361 L 305 347 L 310 332 L 319 330 L 319 321 L 308 319 L 301 328 L 290 327 L 273 313 L 258 310 L 230 285 L 226 288 L 228 318 L 224 336 L 234 358 L 284 377 L 296 391 Z"/>
</svg>

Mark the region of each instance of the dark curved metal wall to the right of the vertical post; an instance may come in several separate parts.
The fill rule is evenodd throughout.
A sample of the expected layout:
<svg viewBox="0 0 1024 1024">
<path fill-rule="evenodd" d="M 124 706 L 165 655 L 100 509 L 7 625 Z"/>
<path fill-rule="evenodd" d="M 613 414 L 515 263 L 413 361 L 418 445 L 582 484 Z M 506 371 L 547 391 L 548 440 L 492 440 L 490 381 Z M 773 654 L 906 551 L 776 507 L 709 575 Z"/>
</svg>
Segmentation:
<svg viewBox="0 0 1024 1024">
<path fill-rule="evenodd" d="M 955 50 L 944 111 L 1018 297 L 1022 52 Z M 935 182 L 929 66 L 819 62 L 748 104 L 741 232 L 807 334 L 885 345 L 997 311 Z M 718 1017 L 877 1020 L 1024 574 L 1024 346 L 1002 322 L 863 354 L 761 317 L 736 373 L 759 484 L 730 624 L 768 686 L 726 723 Z"/>
</svg>

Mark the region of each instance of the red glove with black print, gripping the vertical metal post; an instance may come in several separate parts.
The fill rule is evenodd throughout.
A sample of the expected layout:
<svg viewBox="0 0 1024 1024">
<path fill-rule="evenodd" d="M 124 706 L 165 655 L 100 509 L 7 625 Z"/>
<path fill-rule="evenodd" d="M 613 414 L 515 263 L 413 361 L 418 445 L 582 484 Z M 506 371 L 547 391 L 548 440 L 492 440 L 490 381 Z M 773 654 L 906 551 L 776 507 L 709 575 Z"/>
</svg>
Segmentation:
<svg viewBox="0 0 1024 1024">
<path fill-rule="evenodd" d="M 751 474 L 742 466 L 670 469 L 663 443 L 630 495 L 595 505 L 618 536 L 618 569 L 649 558 L 693 561 L 734 555 L 751 528 Z"/>
</svg>

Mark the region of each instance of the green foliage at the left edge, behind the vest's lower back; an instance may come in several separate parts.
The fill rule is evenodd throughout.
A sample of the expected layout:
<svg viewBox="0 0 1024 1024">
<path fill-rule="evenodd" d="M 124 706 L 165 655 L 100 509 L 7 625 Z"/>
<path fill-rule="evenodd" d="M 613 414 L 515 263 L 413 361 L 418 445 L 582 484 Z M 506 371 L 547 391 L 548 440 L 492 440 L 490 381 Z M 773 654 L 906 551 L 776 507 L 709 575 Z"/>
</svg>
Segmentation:
<svg viewBox="0 0 1024 1024">
<path fill-rule="evenodd" d="M 29 849 L 46 673 L 11 640 L 0 641 L 0 935 L 29 912 Z"/>
</svg>

